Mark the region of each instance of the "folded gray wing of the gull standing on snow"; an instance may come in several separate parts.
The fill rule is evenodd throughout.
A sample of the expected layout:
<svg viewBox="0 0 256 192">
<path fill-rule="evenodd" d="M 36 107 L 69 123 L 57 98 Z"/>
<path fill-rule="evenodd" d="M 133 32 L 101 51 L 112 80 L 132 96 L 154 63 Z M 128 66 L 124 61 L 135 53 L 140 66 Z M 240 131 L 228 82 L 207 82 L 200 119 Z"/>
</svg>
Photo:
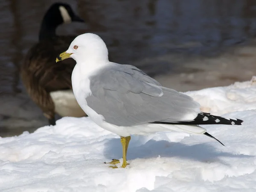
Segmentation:
<svg viewBox="0 0 256 192">
<path fill-rule="evenodd" d="M 132 65 L 113 64 L 90 77 L 87 105 L 118 126 L 195 119 L 199 104 L 187 95 L 161 87 Z"/>
</svg>

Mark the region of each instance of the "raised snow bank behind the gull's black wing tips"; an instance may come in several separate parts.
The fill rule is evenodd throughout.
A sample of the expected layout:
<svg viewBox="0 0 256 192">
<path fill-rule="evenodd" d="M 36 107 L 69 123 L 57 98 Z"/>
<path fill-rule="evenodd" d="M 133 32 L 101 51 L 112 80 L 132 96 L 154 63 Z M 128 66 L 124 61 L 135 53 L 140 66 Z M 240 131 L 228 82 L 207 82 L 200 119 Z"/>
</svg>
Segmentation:
<svg viewBox="0 0 256 192">
<path fill-rule="evenodd" d="M 201 104 L 201 111 L 223 115 L 256 108 L 256 76 L 251 81 L 236 82 L 227 87 L 212 87 L 186 92 Z"/>
</svg>

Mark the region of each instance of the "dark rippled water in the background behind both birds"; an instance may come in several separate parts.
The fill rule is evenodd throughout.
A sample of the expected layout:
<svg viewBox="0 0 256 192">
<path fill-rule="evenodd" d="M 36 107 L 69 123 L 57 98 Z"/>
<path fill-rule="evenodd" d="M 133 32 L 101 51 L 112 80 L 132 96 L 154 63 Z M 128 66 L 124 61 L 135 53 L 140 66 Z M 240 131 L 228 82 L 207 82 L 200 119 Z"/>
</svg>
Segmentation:
<svg viewBox="0 0 256 192">
<path fill-rule="evenodd" d="M 0 1 L 0 93 L 17 93 L 18 68 L 38 41 L 41 19 L 54 0 Z M 63 0 L 86 23 L 58 34 L 95 32 L 113 61 L 134 64 L 150 75 L 172 70 L 172 53 L 218 55 L 256 35 L 256 0 Z M 10 104 L 11 106 L 11 104 Z M 3 115 L 3 114 L 1 114 Z"/>
</svg>

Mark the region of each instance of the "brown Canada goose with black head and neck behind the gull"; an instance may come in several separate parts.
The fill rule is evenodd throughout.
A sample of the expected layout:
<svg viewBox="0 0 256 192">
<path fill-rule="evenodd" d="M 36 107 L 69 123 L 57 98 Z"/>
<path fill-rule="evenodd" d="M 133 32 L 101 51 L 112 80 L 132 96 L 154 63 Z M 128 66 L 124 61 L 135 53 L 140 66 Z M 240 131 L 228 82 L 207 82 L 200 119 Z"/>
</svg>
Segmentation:
<svg viewBox="0 0 256 192">
<path fill-rule="evenodd" d="M 57 36 L 56 28 L 72 21 L 84 22 L 68 4 L 52 4 L 41 23 L 39 42 L 29 49 L 20 68 L 29 96 L 41 108 L 50 125 L 55 125 L 55 113 L 86 116 L 72 91 L 71 74 L 76 62 L 68 59 L 62 64 L 55 63 L 56 55 L 66 50 L 75 38 Z"/>
</svg>

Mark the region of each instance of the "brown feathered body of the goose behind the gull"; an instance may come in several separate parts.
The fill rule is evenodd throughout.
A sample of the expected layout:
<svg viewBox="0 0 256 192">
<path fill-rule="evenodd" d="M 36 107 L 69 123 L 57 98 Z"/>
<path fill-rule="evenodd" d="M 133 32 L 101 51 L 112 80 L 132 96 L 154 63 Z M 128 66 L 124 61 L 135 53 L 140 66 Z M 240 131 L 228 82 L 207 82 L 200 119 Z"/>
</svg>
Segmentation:
<svg viewBox="0 0 256 192">
<path fill-rule="evenodd" d="M 43 23 L 45 22 L 44 20 Z M 55 28 L 59 24 L 56 23 Z M 47 29 L 46 26 L 41 26 L 42 28 Z M 56 36 L 55 29 L 54 32 L 49 32 L 50 30 L 45 33 L 41 30 L 41 36 L 42 34 L 47 34 L 48 36 L 43 39 L 40 38 L 40 41 L 29 49 L 20 68 L 20 75 L 31 99 L 41 108 L 44 116 L 49 119 L 49 124 L 55 125 L 55 113 L 58 113 L 58 111 L 56 111 L 56 103 L 51 95 L 56 91 L 64 91 L 64 93 L 69 94 L 69 97 L 70 91 L 71 95 L 73 94 L 71 74 L 76 64 L 73 59 L 67 59 L 66 62 L 58 64 L 55 63 L 55 58 L 59 52 L 68 49 L 75 36 Z M 72 98 L 72 102 L 74 105 L 72 108 L 68 109 L 66 106 L 66 109 L 69 110 L 67 115 L 86 116 L 77 104 L 75 97 Z M 67 103 L 72 105 L 72 102 Z M 58 109 L 61 111 L 60 108 Z M 65 113 L 60 115 L 65 116 Z"/>
</svg>

